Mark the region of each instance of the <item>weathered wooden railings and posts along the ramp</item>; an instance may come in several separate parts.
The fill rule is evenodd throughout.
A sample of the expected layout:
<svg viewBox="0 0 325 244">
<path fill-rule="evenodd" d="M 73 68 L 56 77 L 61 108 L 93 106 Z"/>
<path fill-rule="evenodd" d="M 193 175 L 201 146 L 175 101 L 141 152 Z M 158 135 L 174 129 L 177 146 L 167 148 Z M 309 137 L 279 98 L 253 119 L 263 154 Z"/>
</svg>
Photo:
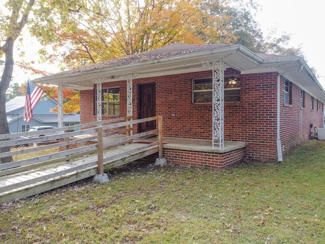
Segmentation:
<svg viewBox="0 0 325 244">
<path fill-rule="evenodd" d="M 30 159 L 15 161 L 15 162 L 7 163 L 7 164 L 2 164 L 2 165 L 0 165 L 0 171 L 5 171 L 5 170 L 15 168 L 15 171 L 19 172 L 19 168 L 17 168 L 17 167 L 21 167 L 23 170 L 24 168 L 28 167 L 28 165 L 33 165 L 33 164 L 38 165 L 38 163 L 41 164 L 41 162 L 52 161 L 54 163 L 57 163 L 58 160 L 56 160 L 56 159 L 62 159 L 63 161 L 65 161 L 65 160 L 69 160 L 69 156 L 71 156 L 73 154 L 80 154 L 80 153 L 86 154 L 87 151 L 89 151 L 89 154 L 92 154 L 92 153 L 94 153 L 94 150 L 96 150 L 98 153 L 98 173 L 103 174 L 103 172 L 104 172 L 103 164 L 105 163 L 103 160 L 104 150 L 106 150 L 107 148 L 110 148 L 110 147 L 114 147 L 116 145 L 127 144 L 129 142 L 132 142 L 132 140 L 134 140 L 134 139 L 139 139 L 139 138 L 151 135 L 151 134 L 158 135 L 158 148 L 159 148 L 158 155 L 159 155 L 159 159 L 163 158 L 163 130 L 162 130 L 162 127 L 163 127 L 162 120 L 163 119 L 161 116 L 142 118 L 142 119 L 137 119 L 137 120 L 131 120 L 131 117 L 123 117 L 123 119 L 124 119 L 124 121 L 119 122 L 119 123 L 103 125 L 101 127 L 85 129 L 85 130 L 81 130 L 81 131 L 74 131 L 74 132 L 68 132 L 68 133 L 61 133 L 61 134 L 57 134 L 57 135 L 29 138 L 29 139 L 16 140 L 16 141 L 15 140 L 10 140 L 10 141 L 6 141 L 6 142 L 0 141 L 0 146 L 4 146 L 7 143 L 12 146 L 12 145 L 18 144 L 20 142 L 36 143 L 36 142 L 40 142 L 40 141 L 50 140 L 51 138 L 62 139 L 61 141 L 59 141 L 56 144 L 49 144 L 49 145 L 37 146 L 37 147 L 28 147 L 26 149 L 12 150 L 7 153 L 0 153 L 0 158 L 14 156 L 14 155 L 22 155 L 25 153 L 31 153 L 33 151 L 40 151 L 43 149 L 50 149 L 53 147 L 61 147 L 61 148 L 68 149 L 69 145 L 73 145 L 76 143 L 81 143 L 81 142 L 85 142 L 85 141 L 89 141 L 89 140 L 95 140 L 95 139 L 97 139 L 97 142 L 98 142 L 97 144 L 93 144 L 93 145 L 81 146 L 81 147 L 72 148 L 72 149 L 69 148 L 68 150 L 63 150 L 58 153 L 53 153 L 53 154 L 49 154 L 49 155 L 39 156 L 36 158 L 30 158 Z M 116 118 L 116 119 L 110 119 L 110 120 L 106 120 L 106 121 L 112 122 L 112 121 L 120 121 L 120 120 L 121 120 L 121 118 Z M 131 133 L 129 133 L 130 131 L 132 131 L 131 125 L 136 125 L 136 124 L 143 123 L 145 121 L 151 121 L 151 120 L 157 121 L 158 129 L 152 130 L 149 132 L 138 133 L 135 135 L 131 135 Z M 90 123 L 90 124 L 93 125 L 94 123 Z M 128 126 L 130 126 L 130 128 L 127 128 Z M 114 130 L 111 132 L 105 132 L 105 130 L 111 130 L 111 129 L 116 129 L 116 128 L 121 128 L 121 129 Z M 126 133 L 129 136 L 104 142 L 104 137 L 114 135 L 117 133 Z M 73 136 L 83 135 L 83 134 L 87 135 L 87 136 L 84 138 L 75 138 L 75 139 L 73 137 Z M 152 144 L 152 146 L 153 146 L 153 144 Z M 5 172 L 3 172 L 3 173 L 5 173 Z"/>
</svg>

